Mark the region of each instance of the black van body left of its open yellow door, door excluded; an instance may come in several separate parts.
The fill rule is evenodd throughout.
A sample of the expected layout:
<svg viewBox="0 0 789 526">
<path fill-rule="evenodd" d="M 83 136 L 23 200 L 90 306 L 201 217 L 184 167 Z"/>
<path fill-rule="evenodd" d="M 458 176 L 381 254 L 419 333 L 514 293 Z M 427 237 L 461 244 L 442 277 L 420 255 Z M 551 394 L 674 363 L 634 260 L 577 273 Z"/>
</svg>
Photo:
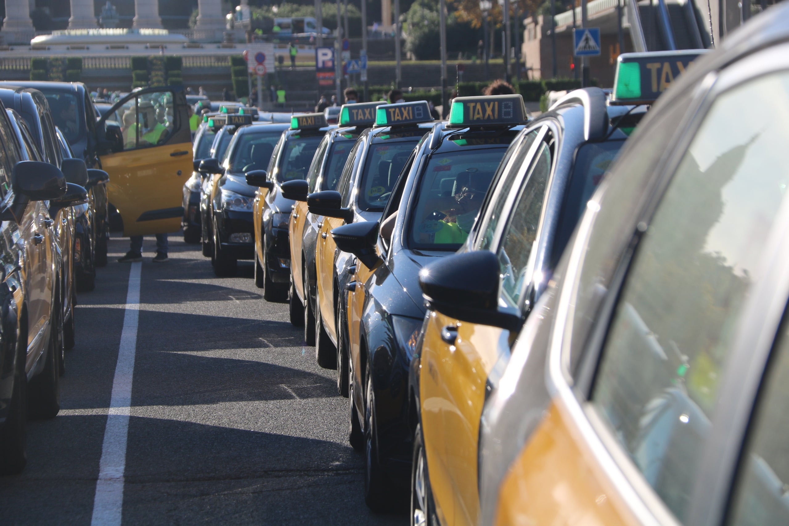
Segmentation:
<svg viewBox="0 0 789 526">
<path fill-rule="evenodd" d="M 99 114 L 90 98 L 90 92 L 81 82 L 40 82 L 9 81 L 0 82 L 0 87 L 13 89 L 34 88 L 41 91 L 49 103 L 54 125 L 58 127 L 69 142 L 73 155 L 83 159 L 88 168 L 101 168 L 97 151 L 96 137 L 103 136 L 97 129 Z M 24 114 L 22 114 L 24 117 Z M 107 185 L 95 185 L 88 190 L 88 198 L 93 211 L 92 229 L 95 235 L 94 259 L 98 267 L 107 264 L 107 241 L 110 238 L 110 216 L 114 223 L 120 224 L 118 211 L 107 199 Z"/>
</svg>

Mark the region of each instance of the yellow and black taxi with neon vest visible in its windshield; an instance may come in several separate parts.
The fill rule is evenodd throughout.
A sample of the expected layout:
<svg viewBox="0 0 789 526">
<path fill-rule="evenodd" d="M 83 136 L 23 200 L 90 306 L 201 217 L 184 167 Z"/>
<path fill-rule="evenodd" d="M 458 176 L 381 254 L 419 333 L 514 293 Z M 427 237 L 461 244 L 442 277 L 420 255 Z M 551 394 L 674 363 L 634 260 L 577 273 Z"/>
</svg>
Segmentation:
<svg viewBox="0 0 789 526">
<path fill-rule="evenodd" d="M 346 286 L 341 332 L 348 336 L 341 341 L 350 345 L 340 368 L 349 375 L 351 438 L 365 449 L 365 502 L 372 509 L 405 495 L 411 472 L 409 364 L 425 311 L 419 271 L 466 241 L 527 119 L 521 95 L 454 99 L 449 123 L 433 125 L 409 155 L 380 224 L 357 222 L 331 233 L 357 260 Z"/>
</svg>

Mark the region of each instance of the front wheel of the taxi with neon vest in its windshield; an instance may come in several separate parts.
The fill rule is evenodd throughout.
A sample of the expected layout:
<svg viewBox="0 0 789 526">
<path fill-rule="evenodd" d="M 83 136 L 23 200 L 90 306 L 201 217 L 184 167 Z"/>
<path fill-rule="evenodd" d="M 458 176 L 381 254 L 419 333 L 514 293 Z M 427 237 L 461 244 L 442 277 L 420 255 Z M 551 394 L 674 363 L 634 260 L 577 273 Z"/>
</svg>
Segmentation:
<svg viewBox="0 0 789 526">
<path fill-rule="evenodd" d="M 365 504 L 374 512 L 383 512 L 391 509 L 392 487 L 378 457 L 376 394 L 372 388 L 369 360 L 365 379 Z"/>
</svg>

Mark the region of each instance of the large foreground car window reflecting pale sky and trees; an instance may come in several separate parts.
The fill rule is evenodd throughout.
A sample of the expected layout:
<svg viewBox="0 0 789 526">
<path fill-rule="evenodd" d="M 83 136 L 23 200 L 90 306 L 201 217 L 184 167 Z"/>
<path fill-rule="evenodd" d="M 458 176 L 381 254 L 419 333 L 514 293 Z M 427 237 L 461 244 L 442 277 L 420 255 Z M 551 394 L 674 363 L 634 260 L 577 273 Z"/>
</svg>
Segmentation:
<svg viewBox="0 0 789 526">
<path fill-rule="evenodd" d="M 769 105 L 742 107 L 754 97 Z M 683 521 L 750 285 L 789 185 L 789 74 L 720 95 L 643 234 L 592 403 Z"/>
</svg>

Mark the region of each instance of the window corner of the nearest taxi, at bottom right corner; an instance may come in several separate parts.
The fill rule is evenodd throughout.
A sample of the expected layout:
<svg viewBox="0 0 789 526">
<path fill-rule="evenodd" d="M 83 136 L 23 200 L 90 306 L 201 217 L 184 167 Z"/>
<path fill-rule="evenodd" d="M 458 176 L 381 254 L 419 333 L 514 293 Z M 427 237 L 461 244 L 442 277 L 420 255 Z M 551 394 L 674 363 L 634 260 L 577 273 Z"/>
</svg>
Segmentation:
<svg viewBox="0 0 789 526">
<path fill-rule="evenodd" d="M 789 327 L 772 350 L 731 498 L 731 526 L 789 524 Z"/>
</svg>

